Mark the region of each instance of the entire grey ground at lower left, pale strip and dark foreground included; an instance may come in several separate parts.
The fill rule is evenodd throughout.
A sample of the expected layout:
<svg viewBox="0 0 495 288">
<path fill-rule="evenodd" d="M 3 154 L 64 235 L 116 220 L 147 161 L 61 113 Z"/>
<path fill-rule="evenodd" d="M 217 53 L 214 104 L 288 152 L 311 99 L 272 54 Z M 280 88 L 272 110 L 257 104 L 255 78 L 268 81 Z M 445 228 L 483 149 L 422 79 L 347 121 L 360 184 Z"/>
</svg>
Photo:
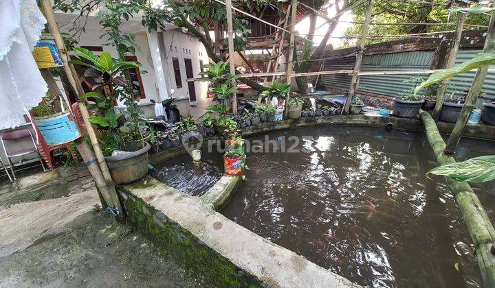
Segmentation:
<svg viewBox="0 0 495 288">
<path fill-rule="evenodd" d="M 0 183 L 0 287 L 199 287 L 100 211 L 85 167 Z"/>
</svg>

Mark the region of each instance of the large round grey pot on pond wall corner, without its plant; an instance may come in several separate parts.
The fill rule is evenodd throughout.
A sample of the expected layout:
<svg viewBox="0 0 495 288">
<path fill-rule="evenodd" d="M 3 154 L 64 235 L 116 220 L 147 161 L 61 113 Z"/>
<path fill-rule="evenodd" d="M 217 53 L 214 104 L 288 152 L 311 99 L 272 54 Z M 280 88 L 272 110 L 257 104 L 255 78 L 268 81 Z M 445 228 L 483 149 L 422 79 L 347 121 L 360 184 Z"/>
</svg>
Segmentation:
<svg viewBox="0 0 495 288">
<path fill-rule="evenodd" d="M 140 180 L 148 174 L 148 143 L 142 147 L 139 145 L 126 145 L 124 151 L 129 153 L 105 157 L 110 169 L 113 182 L 126 184 Z"/>
</svg>

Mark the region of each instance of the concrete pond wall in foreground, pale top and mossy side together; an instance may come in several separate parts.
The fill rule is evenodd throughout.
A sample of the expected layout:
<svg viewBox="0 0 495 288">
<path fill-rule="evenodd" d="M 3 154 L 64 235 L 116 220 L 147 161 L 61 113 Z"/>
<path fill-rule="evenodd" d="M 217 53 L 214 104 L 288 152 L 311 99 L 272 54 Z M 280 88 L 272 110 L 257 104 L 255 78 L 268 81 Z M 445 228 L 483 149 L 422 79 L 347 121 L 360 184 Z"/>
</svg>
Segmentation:
<svg viewBox="0 0 495 288">
<path fill-rule="evenodd" d="M 358 287 L 151 177 L 118 191 L 129 221 L 207 285 Z"/>
</svg>

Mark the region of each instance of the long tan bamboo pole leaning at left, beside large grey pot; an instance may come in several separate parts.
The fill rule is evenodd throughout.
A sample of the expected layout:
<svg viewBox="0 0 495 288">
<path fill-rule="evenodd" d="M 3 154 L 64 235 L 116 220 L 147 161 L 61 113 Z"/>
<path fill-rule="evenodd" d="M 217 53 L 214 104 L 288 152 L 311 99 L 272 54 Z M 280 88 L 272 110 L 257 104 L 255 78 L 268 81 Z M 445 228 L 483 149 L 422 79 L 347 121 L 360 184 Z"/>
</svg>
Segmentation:
<svg viewBox="0 0 495 288">
<path fill-rule="evenodd" d="M 83 87 L 80 85 L 80 82 L 76 77 L 77 74 L 76 71 L 74 70 L 74 67 L 72 66 L 72 64 L 69 63 L 69 53 L 67 53 L 67 49 L 65 49 L 65 44 L 63 42 L 62 34 L 58 29 L 58 25 L 55 20 L 55 15 L 52 10 L 52 4 L 50 3 L 50 0 L 41 0 L 41 8 L 45 14 L 45 18 L 47 19 L 50 32 L 52 32 L 52 35 L 55 38 L 55 43 L 58 48 L 58 51 L 60 51 L 61 59 L 63 62 L 65 73 L 67 74 L 67 78 L 69 79 L 69 82 L 72 88 L 74 89 L 74 92 L 76 93 L 76 95 L 78 95 L 79 109 L 81 115 L 83 115 L 83 120 L 89 135 L 89 139 L 91 139 L 91 144 L 93 145 L 94 152 L 96 153 L 96 158 L 98 160 L 98 165 L 100 166 L 101 169 L 100 172 L 102 173 L 104 182 L 98 180 L 100 179 L 100 176 L 98 176 L 98 171 L 94 171 L 96 175 L 96 177 L 94 176 L 94 179 L 96 181 L 96 184 L 101 185 L 98 187 L 98 189 L 100 189 L 100 192 L 102 193 L 105 202 L 107 202 L 107 204 L 112 208 L 116 208 L 118 211 L 119 218 L 123 219 L 124 213 L 122 213 L 122 206 L 120 205 L 120 201 L 117 196 L 117 191 L 115 191 L 115 186 L 113 185 L 113 180 L 110 176 L 110 171 L 108 169 L 107 162 L 105 162 L 104 160 L 104 156 L 100 148 L 100 144 L 98 143 L 98 139 L 96 138 L 94 128 L 91 125 L 91 122 L 89 121 L 89 113 L 87 111 L 86 105 L 83 103 L 83 101 L 80 101 L 79 96 L 84 94 Z M 94 158 L 91 158 L 91 161 L 93 160 Z M 88 164 L 87 161 L 85 162 Z"/>
</svg>

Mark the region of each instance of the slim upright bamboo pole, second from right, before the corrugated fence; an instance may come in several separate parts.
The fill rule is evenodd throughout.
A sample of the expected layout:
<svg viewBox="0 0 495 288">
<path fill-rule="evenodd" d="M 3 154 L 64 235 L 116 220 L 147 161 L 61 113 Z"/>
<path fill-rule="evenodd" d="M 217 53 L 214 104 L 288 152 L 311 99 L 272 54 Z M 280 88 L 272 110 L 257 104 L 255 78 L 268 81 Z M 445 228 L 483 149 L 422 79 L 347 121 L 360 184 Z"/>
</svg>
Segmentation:
<svg viewBox="0 0 495 288">
<path fill-rule="evenodd" d="M 465 16 L 466 14 L 463 12 L 457 13 L 456 30 L 454 32 L 454 35 L 452 36 L 452 44 L 450 45 L 450 52 L 448 55 L 447 65 L 445 66 L 445 69 L 450 69 L 454 67 L 457 51 L 459 51 L 459 45 L 461 44 L 461 35 L 465 21 Z M 443 106 L 443 99 L 445 97 L 445 91 L 447 91 L 447 86 L 449 81 L 450 81 L 449 79 L 443 80 L 437 91 L 437 103 L 435 104 L 435 108 L 433 110 L 434 119 L 438 119 L 440 115 L 440 110 Z"/>
</svg>

